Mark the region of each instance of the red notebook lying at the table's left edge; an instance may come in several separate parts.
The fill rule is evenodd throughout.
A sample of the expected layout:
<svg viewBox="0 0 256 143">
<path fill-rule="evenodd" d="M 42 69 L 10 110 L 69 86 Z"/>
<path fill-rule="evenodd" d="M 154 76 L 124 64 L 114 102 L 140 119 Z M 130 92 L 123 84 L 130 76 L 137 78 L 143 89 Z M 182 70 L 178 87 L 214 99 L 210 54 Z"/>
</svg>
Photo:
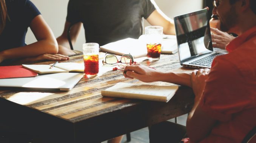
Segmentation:
<svg viewBox="0 0 256 143">
<path fill-rule="evenodd" d="M 20 66 L 0 66 L 1 78 L 35 77 L 38 74 Z"/>
</svg>

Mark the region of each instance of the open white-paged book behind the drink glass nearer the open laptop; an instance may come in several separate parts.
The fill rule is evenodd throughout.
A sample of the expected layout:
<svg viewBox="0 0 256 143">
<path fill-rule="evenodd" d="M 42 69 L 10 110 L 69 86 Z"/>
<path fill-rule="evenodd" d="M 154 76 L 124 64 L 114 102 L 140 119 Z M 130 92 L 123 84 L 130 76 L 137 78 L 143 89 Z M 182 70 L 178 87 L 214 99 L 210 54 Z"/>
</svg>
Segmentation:
<svg viewBox="0 0 256 143">
<path fill-rule="evenodd" d="M 162 41 L 161 53 L 175 54 L 177 49 L 177 40 L 174 35 L 165 35 Z M 145 43 L 145 35 L 140 36 L 139 39 L 126 38 L 116 42 L 112 42 L 100 46 L 100 50 L 117 54 L 131 54 L 134 58 L 147 56 L 147 46 Z"/>
</svg>

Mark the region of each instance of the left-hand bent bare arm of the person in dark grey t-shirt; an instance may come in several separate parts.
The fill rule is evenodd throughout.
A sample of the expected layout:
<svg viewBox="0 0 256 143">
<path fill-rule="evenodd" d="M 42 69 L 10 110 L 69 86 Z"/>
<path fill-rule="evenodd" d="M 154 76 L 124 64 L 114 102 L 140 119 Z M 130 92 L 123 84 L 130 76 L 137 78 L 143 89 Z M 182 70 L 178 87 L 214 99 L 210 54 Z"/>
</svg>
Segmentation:
<svg viewBox="0 0 256 143">
<path fill-rule="evenodd" d="M 68 28 L 70 26 L 71 26 L 71 23 L 66 21 L 62 35 L 60 35 L 57 38 L 57 42 L 59 44 L 59 54 L 64 54 L 64 55 L 74 54 L 74 52 L 70 50 L 70 46 L 68 42 Z M 71 38 L 72 45 L 76 43 L 76 39 L 77 39 L 77 36 L 79 35 L 81 27 L 82 27 L 82 23 L 76 23 L 70 29 L 70 38 Z"/>
</svg>

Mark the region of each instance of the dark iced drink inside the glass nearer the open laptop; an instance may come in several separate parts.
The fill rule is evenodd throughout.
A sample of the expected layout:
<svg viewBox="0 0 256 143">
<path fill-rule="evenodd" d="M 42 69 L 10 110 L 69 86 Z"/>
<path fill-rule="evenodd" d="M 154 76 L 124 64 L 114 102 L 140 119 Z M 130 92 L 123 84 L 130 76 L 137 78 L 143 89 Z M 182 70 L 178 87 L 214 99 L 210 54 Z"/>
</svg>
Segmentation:
<svg viewBox="0 0 256 143">
<path fill-rule="evenodd" d="M 161 44 L 147 44 L 148 58 L 159 59 L 161 54 Z"/>
</svg>

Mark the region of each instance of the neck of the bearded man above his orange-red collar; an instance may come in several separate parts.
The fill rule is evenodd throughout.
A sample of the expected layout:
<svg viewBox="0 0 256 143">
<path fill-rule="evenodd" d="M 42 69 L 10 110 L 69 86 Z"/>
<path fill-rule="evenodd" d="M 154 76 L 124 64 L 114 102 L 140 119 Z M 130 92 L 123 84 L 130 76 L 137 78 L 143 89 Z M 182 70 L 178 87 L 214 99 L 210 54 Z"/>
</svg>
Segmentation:
<svg viewBox="0 0 256 143">
<path fill-rule="evenodd" d="M 237 20 L 237 25 L 230 29 L 230 31 L 236 33 L 238 36 L 242 35 L 247 30 L 256 26 L 256 15 L 253 12 L 240 15 L 240 17 Z"/>
</svg>

